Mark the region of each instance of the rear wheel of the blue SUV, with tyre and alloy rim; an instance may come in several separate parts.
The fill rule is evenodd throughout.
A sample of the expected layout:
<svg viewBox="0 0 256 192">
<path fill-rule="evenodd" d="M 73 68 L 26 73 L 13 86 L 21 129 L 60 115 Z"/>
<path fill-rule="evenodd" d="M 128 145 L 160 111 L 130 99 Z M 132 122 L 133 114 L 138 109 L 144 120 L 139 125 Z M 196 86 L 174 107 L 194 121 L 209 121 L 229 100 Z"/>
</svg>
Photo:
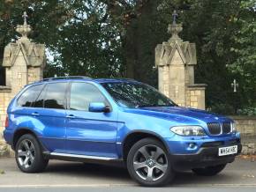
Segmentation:
<svg viewBox="0 0 256 192">
<path fill-rule="evenodd" d="M 19 169 L 25 173 L 42 172 L 49 162 L 49 159 L 43 158 L 37 139 L 30 134 L 19 138 L 15 147 L 15 159 Z"/>
</svg>

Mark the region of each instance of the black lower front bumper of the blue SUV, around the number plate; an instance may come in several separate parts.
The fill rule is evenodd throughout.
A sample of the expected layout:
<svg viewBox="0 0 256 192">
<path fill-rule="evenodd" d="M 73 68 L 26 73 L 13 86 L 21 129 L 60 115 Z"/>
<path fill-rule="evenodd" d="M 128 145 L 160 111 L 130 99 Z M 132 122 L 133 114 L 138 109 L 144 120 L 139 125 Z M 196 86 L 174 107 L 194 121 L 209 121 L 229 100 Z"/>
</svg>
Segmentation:
<svg viewBox="0 0 256 192">
<path fill-rule="evenodd" d="M 200 148 L 200 150 L 194 154 L 170 155 L 173 169 L 176 171 L 185 171 L 190 170 L 192 168 L 217 166 L 231 163 L 235 160 L 236 156 L 242 151 L 242 144 L 237 143 L 237 154 L 219 157 L 218 150 L 220 147 L 225 146 Z"/>
</svg>

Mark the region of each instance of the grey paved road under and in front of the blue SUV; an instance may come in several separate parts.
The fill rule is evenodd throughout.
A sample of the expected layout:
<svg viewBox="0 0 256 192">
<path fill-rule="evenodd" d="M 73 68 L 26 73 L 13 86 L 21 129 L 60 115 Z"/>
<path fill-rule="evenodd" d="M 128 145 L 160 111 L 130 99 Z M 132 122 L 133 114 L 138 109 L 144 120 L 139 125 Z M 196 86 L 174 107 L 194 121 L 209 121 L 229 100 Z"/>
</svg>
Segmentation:
<svg viewBox="0 0 256 192">
<path fill-rule="evenodd" d="M 41 174 L 23 174 L 14 159 L 0 159 L 0 191 L 145 191 L 130 179 L 123 168 L 81 163 L 50 161 L 49 167 Z M 147 188 L 158 191 L 159 188 Z M 256 162 L 237 160 L 215 177 L 200 177 L 191 172 L 177 174 L 177 178 L 164 191 L 255 191 Z"/>
</svg>

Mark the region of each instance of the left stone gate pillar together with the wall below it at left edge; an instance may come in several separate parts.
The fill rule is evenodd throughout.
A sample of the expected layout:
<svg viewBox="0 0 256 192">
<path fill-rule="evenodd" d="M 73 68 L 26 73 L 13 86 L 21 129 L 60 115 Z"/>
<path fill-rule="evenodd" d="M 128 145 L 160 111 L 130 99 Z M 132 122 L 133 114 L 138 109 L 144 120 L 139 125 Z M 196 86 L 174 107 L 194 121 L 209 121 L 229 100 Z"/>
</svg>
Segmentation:
<svg viewBox="0 0 256 192">
<path fill-rule="evenodd" d="M 46 63 L 45 46 L 28 39 L 32 28 L 26 23 L 26 12 L 23 18 L 24 24 L 16 28 L 21 37 L 4 48 L 6 86 L 0 86 L 0 157 L 9 153 L 2 137 L 6 108 L 24 85 L 41 80 Z"/>
</svg>

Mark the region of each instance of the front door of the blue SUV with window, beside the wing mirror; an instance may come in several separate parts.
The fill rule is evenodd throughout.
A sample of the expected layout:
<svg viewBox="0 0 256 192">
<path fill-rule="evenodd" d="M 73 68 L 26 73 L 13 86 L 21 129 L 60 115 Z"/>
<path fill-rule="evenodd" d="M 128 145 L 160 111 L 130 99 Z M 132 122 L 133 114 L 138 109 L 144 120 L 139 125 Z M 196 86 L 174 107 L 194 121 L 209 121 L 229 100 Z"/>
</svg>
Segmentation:
<svg viewBox="0 0 256 192">
<path fill-rule="evenodd" d="M 66 147 L 72 154 L 117 157 L 117 112 L 89 112 L 89 104 L 108 100 L 96 85 L 72 82 L 67 110 Z"/>
</svg>

